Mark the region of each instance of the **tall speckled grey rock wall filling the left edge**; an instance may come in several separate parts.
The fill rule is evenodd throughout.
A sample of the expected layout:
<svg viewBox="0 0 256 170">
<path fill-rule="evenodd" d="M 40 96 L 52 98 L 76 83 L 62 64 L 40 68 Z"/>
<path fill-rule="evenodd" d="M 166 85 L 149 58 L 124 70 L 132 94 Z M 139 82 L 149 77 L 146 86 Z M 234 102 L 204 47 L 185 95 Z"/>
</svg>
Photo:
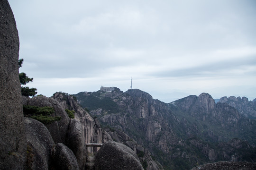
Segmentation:
<svg viewBox="0 0 256 170">
<path fill-rule="evenodd" d="M 7 0 L 0 1 L 0 167 L 23 169 L 27 144 L 18 78 L 19 39 Z"/>
</svg>

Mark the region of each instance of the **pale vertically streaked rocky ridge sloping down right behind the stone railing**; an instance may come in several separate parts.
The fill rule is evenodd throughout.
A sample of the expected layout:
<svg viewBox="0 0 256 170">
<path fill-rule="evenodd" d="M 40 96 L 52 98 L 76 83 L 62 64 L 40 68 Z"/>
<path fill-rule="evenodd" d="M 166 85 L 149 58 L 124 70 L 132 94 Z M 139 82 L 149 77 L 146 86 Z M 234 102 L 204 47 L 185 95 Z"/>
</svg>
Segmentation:
<svg viewBox="0 0 256 170">
<path fill-rule="evenodd" d="M 75 119 L 80 121 L 82 128 L 84 129 L 83 134 L 86 135 L 85 143 L 99 143 L 103 144 L 112 139 L 118 143 L 125 144 L 133 150 L 134 153 L 141 153 L 143 156 L 139 156 L 139 160 L 143 163 L 146 170 L 159 170 L 162 169 L 160 163 L 156 163 L 152 160 L 150 153 L 142 145 L 137 144 L 135 141 L 124 132 L 119 129 L 105 128 L 102 129 L 99 120 L 94 117 L 92 118 L 87 111 L 76 102 L 76 98 L 73 95 L 67 93 L 55 93 L 52 98 L 57 100 L 62 107 L 69 110 L 75 111 Z M 90 119 L 86 119 L 89 117 Z M 93 120 L 93 121 L 92 121 Z M 93 149 L 93 148 L 91 148 Z M 94 148 L 96 149 L 96 148 Z M 98 148 L 99 149 L 99 148 Z M 96 151 L 96 150 L 95 150 Z"/>
</svg>

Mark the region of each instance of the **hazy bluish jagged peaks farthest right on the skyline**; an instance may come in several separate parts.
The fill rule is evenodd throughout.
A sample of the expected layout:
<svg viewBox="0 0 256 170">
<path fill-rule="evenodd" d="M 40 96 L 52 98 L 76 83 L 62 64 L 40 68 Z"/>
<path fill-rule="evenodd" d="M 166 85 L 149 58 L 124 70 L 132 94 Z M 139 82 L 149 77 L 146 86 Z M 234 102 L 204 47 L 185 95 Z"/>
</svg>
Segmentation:
<svg viewBox="0 0 256 170">
<path fill-rule="evenodd" d="M 228 103 L 247 118 L 256 118 L 256 101 L 249 101 L 246 97 L 230 96 L 221 97 L 219 102 Z"/>
</svg>

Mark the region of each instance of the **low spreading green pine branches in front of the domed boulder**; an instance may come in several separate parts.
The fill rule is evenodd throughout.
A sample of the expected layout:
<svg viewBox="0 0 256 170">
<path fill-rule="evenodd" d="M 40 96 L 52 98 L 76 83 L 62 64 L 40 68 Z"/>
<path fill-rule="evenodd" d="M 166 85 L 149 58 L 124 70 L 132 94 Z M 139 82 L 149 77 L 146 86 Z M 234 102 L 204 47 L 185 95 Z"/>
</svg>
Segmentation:
<svg viewBox="0 0 256 170">
<path fill-rule="evenodd" d="M 45 107 L 38 107 L 38 106 L 30 106 L 30 105 L 23 105 L 23 114 L 24 117 L 36 119 L 44 124 L 51 124 L 54 121 L 58 121 L 61 119 L 60 116 L 50 116 L 55 112 L 53 107 L 45 106 Z"/>
</svg>

